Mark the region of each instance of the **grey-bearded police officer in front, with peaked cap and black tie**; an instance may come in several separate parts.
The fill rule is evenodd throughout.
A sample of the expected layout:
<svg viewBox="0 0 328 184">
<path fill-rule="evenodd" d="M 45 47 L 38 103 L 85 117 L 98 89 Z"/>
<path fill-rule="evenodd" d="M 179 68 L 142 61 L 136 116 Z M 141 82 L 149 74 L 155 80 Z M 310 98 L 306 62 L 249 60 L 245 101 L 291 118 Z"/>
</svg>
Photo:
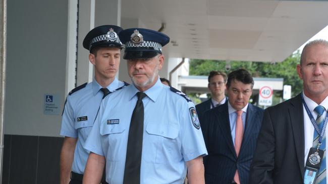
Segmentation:
<svg viewBox="0 0 328 184">
<path fill-rule="evenodd" d="M 207 155 L 195 106 L 183 93 L 160 82 L 170 38 L 134 28 L 120 33 L 133 85 L 108 95 L 86 141 L 90 150 L 83 183 L 204 183 Z"/>
</svg>

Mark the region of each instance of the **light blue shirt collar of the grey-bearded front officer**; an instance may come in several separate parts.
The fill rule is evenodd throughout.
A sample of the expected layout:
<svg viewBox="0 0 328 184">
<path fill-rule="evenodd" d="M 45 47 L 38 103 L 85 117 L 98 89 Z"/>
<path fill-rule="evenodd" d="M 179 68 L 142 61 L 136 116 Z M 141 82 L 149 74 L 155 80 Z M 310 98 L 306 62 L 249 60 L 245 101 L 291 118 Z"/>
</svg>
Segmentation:
<svg viewBox="0 0 328 184">
<path fill-rule="evenodd" d="M 131 87 L 131 90 L 128 90 L 129 91 L 128 92 L 128 97 L 131 100 L 137 94 L 137 92 L 139 92 L 139 89 L 137 89 L 136 86 L 134 86 L 134 84 L 129 85 L 129 87 Z M 151 86 L 149 89 L 145 90 L 144 93 L 153 102 L 156 102 L 162 88 L 163 88 L 163 85 L 160 82 L 159 77 L 158 77 L 156 83 L 153 86 Z"/>
</svg>

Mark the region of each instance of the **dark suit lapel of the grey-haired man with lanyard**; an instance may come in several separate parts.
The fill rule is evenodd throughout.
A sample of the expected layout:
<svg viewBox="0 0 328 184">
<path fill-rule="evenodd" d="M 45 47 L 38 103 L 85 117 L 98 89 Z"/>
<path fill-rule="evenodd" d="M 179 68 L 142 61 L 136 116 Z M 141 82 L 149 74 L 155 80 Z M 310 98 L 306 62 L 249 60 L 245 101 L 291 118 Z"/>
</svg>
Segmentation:
<svg viewBox="0 0 328 184">
<path fill-rule="evenodd" d="M 288 108 L 288 112 L 291 119 L 296 156 L 302 178 L 304 179 L 304 118 L 301 96 L 298 95 L 295 99 L 291 99 L 290 104 L 291 106 Z"/>
</svg>

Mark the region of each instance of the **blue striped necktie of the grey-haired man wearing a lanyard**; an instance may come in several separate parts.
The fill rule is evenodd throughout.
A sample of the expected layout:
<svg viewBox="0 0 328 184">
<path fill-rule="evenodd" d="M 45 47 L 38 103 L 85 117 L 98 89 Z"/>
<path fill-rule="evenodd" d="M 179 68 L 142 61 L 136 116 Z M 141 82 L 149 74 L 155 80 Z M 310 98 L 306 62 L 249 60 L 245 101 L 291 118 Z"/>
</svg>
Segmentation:
<svg viewBox="0 0 328 184">
<path fill-rule="evenodd" d="M 322 126 L 323 126 L 324 117 L 322 116 L 322 114 L 324 111 L 325 111 L 325 109 L 322 106 L 317 106 L 314 109 L 314 112 L 316 112 L 318 114 L 315 121 L 318 124 L 318 127 L 320 130 L 322 130 Z M 314 130 L 314 135 L 313 135 L 313 147 L 314 148 L 317 147 L 318 140 L 319 140 L 319 134 Z M 325 184 L 326 183 L 325 134 L 321 140 L 320 149 L 322 149 L 324 151 L 324 154 L 323 154 L 321 166 L 320 166 L 319 173 L 318 173 L 317 179 L 315 181 L 315 184 Z"/>
</svg>

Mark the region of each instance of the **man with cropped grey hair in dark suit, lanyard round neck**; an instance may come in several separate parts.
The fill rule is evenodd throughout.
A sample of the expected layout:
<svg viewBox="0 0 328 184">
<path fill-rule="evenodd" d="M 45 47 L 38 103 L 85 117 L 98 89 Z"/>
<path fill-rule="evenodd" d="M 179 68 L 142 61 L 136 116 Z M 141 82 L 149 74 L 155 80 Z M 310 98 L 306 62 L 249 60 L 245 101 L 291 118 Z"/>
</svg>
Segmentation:
<svg viewBox="0 0 328 184">
<path fill-rule="evenodd" d="M 265 110 L 251 164 L 250 183 L 304 182 L 305 161 L 309 158 L 310 148 L 316 147 L 313 125 L 320 124 L 314 120 L 319 117 L 315 109 L 322 106 L 324 111 L 321 116 L 326 117 L 328 108 L 328 42 L 309 42 L 296 69 L 303 80 L 303 92 Z M 308 107 L 309 113 L 305 107 Z M 311 114 L 314 122 L 309 118 Z M 323 145 L 324 148 L 321 147 Z M 320 149 L 325 150 L 325 145 L 324 137 Z M 326 159 L 323 159 L 315 183 L 326 183 L 323 168 L 326 164 Z"/>
</svg>

